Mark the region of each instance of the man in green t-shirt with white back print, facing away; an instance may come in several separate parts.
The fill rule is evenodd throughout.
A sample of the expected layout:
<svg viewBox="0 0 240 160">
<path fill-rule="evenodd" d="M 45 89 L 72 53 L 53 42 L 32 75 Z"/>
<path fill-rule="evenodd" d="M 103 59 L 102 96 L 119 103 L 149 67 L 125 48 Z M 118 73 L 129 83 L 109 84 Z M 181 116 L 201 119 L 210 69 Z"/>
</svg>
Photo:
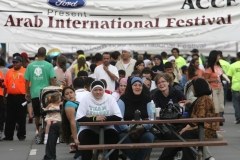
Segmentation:
<svg viewBox="0 0 240 160">
<path fill-rule="evenodd" d="M 55 85 L 56 74 L 53 65 L 45 61 L 46 49 L 41 47 L 38 49 L 38 59 L 30 63 L 24 74 L 26 79 L 26 95 L 27 101 L 32 101 L 33 112 L 35 116 L 35 125 L 40 135 L 40 101 L 39 92 L 44 87 Z"/>
</svg>

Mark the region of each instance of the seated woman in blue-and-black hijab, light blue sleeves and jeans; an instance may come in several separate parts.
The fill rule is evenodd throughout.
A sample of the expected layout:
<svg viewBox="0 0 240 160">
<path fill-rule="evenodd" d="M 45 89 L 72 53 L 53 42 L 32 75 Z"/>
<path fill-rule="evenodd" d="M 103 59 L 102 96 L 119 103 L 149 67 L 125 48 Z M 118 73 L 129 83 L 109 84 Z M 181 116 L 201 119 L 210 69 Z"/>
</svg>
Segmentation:
<svg viewBox="0 0 240 160">
<path fill-rule="evenodd" d="M 145 87 L 142 79 L 139 77 L 133 77 L 128 80 L 126 91 L 118 100 L 123 121 L 132 121 L 136 110 L 141 112 L 141 119 L 149 119 L 151 98 L 149 91 L 145 91 Z M 120 139 L 130 131 L 130 126 L 128 125 L 118 125 L 115 127 L 120 132 Z M 152 125 L 150 124 L 138 126 L 122 143 L 152 143 L 154 135 L 149 132 L 151 127 Z M 138 149 L 137 153 L 135 149 L 124 149 L 122 152 L 127 155 L 130 160 L 144 160 L 151 152 L 151 148 Z"/>
</svg>

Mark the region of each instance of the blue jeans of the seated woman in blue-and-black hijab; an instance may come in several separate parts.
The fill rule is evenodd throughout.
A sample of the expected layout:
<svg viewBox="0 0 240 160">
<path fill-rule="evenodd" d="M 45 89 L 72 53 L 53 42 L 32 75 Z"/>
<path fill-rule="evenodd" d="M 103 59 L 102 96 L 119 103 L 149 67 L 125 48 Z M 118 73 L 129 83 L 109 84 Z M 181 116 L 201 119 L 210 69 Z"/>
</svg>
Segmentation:
<svg viewBox="0 0 240 160">
<path fill-rule="evenodd" d="M 123 132 L 119 134 L 119 139 L 122 139 L 127 133 Z M 154 135 L 151 132 L 144 132 L 140 138 L 139 143 L 152 143 L 154 141 Z M 133 140 L 128 136 L 122 143 L 133 143 Z M 130 158 L 130 160 L 144 160 L 151 152 L 152 148 L 138 149 L 123 149 L 122 152 Z"/>
</svg>

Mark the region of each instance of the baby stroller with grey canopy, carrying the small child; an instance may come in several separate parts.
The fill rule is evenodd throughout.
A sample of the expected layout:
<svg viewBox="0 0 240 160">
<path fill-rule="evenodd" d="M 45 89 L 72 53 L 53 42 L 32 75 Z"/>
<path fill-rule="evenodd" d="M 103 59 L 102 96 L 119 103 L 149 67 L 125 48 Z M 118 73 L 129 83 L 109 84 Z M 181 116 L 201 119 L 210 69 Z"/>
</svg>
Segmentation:
<svg viewBox="0 0 240 160">
<path fill-rule="evenodd" d="M 40 112 L 41 112 L 41 119 L 42 119 L 41 120 L 42 121 L 42 124 L 41 124 L 42 130 L 41 130 L 41 134 L 37 135 L 35 137 L 36 144 L 43 144 L 45 129 L 46 129 L 45 117 L 46 117 L 47 113 L 61 112 L 61 110 L 44 110 L 44 108 L 46 108 L 48 106 L 48 104 L 50 103 L 49 97 L 51 96 L 52 93 L 55 93 L 55 92 L 59 92 L 61 94 L 62 88 L 58 87 L 58 86 L 48 86 L 48 87 L 43 88 L 40 91 L 39 101 L 40 101 L 40 106 L 41 106 Z M 60 138 L 60 142 L 61 142 L 61 138 Z"/>
</svg>

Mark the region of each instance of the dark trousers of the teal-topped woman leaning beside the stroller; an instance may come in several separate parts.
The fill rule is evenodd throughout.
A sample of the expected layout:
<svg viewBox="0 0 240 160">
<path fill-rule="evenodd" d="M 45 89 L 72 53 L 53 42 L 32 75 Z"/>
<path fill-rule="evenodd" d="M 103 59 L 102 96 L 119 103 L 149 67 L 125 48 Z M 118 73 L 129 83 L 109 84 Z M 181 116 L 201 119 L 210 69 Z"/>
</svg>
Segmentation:
<svg viewBox="0 0 240 160">
<path fill-rule="evenodd" d="M 50 126 L 48 133 L 48 141 L 45 148 L 45 156 L 43 158 L 44 160 L 57 158 L 56 145 L 59 134 L 60 134 L 60 122 L 52 124 Z"/>
</svg>

